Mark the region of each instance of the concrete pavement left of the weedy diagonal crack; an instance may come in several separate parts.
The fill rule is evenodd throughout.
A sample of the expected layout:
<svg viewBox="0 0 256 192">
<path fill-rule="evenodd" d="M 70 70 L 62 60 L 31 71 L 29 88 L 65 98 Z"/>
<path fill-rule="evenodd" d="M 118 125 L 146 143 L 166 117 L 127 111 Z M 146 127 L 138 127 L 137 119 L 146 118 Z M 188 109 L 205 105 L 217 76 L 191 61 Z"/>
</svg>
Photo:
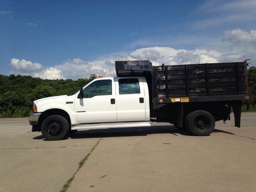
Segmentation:
<svg viewBox="0 0 256 192">
<path fill-rule="evenodd" d="M 45 141 L 27 118 L 0 119 L 0 191 L 59 191 L 97 141 Z"/>
</svg>

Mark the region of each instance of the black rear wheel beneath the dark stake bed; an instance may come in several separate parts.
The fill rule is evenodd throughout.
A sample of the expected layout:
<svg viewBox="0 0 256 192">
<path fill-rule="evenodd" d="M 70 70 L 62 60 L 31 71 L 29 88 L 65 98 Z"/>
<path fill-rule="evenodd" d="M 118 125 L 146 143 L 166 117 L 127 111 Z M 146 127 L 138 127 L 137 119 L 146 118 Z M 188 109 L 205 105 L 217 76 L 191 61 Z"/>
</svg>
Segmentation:
<svg viewBox="0 0 256 192">
<path fill-rule="evenodd" d="M 215 129 L 215 119 L 207 111 L 194 111 L 187 115 L 186 127 L 194 135 L 207 136 Z"/>
</svg>

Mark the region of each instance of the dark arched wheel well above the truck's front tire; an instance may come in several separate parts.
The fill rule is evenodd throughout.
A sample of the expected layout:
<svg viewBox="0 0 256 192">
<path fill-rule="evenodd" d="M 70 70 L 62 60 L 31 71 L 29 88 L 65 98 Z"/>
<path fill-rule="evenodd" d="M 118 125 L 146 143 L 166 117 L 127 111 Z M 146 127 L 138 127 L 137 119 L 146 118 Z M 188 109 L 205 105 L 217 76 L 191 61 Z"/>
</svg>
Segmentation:
<svg viewBox="0 0 256 192">
<path fill-rule="evenodd" d="M 46 110 L 46 111 L 42 112 L 42 114 L 39 116 L 39 119 L 38 119 L 39 126 L 41 126 L 42 121 L 44 121 L 47 117 L 49 117 L 51 115 L 60 115 L 60 116 L 64 117 L 68 121 L 69 127 L 71 127 L 71 121 L 70 121 L 69 114 L 66 111 L 60 110 L 60 109 L 50 109 L 50 110 Z"/>
</svg>

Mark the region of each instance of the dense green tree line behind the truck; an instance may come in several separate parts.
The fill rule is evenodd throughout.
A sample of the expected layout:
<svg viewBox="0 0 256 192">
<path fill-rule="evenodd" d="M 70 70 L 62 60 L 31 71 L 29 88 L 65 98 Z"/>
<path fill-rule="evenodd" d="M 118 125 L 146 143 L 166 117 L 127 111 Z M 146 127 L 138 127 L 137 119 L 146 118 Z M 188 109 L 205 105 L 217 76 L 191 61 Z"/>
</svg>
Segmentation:
<svg viewBox="0 0 256 192">
<path fill-rule="evenodd" d="M 0 75 L 0 118 L 28 117 L 36 99 L 56 95 L 69 95 L 77 92 L 93 79 L 95 74 L 85 79 L 40 79 L 22 75 Z M 250 99 L 243 101 L 243 111 L 255 111 L 256 68 L 248 70 Z"/>
</svg>

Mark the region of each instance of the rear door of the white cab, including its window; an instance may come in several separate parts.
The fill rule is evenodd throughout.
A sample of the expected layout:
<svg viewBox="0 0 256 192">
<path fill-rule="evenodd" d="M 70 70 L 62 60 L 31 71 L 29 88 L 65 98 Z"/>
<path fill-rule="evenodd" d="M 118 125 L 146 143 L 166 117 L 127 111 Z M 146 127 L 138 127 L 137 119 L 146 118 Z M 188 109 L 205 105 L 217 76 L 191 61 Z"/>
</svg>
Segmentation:
<svg viewBox="0 0 256 192">
<path fill-rule="evenodd" d="M 117 121 L 145 121 L 143 78 L 115 77 Z"/>
</svg>

